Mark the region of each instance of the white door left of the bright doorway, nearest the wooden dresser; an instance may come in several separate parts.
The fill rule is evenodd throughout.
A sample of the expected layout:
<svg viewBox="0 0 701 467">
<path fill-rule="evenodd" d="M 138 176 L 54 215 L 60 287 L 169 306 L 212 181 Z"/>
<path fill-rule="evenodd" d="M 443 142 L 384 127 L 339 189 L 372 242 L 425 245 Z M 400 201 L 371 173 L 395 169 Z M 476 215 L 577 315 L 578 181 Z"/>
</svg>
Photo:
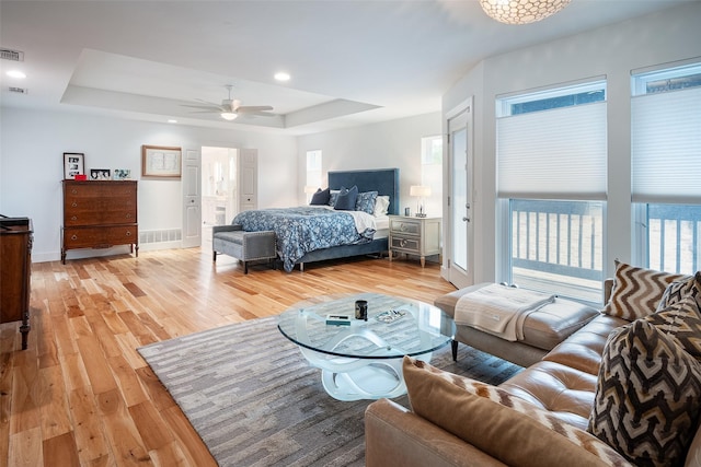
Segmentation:
<svg viewBox="0 0 701 467">
<path fill-rule="evenodd" d="M 202 245 L 202 162 L 199 151 L 185 150 L 183 157 L 183 248 Z"/>
</svg>

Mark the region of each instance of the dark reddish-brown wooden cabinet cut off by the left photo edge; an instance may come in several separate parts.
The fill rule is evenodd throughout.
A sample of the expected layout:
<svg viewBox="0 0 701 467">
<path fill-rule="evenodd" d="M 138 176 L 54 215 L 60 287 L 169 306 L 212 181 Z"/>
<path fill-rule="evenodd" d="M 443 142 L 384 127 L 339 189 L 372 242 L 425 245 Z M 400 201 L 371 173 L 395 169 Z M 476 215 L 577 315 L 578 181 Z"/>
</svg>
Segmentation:
<svg viewBox="0 0 701 467">
<path fill-rule="evenodd" d="M 0 214 L 0 323 L 22 320 L 22 350 L 30 334 L 32 220 Z"/>
</svg>

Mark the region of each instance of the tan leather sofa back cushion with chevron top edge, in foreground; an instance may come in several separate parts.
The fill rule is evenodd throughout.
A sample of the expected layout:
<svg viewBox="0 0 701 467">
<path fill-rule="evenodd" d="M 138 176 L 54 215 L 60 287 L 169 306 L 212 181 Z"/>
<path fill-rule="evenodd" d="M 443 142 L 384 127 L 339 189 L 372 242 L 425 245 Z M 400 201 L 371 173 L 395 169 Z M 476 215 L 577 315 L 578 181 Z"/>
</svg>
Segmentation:
<svg viewBox="0 0 701 467">
<path fill-rule="evenodd" d="M 409 357 L 404 358 L 403 373 L 416 415 L 507 465 L 629 465 L 586 431 L 504 389 Z"/>
</svg>

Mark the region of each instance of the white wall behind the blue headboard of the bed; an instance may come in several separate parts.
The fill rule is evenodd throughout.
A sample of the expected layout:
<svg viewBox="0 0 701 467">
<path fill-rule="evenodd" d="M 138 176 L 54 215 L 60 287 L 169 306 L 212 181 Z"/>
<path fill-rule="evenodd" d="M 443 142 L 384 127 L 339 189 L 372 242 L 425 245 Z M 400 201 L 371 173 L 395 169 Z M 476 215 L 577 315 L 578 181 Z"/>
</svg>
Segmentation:
<svg viewBox="0 0 701 467">
<path fill-rule="evenodd" d="M 329 171 L 399 167 L 400 210 L 416 209 L 409 187 L 421 185 L 421 139 L 440 135 L 440 113 L 400 118 L 375 125 L 364 125 L 301 136 L 298 150 L 298 202 L 304 202 L 307 151 L 322 151 L 324 184 Z"/>
</svg>

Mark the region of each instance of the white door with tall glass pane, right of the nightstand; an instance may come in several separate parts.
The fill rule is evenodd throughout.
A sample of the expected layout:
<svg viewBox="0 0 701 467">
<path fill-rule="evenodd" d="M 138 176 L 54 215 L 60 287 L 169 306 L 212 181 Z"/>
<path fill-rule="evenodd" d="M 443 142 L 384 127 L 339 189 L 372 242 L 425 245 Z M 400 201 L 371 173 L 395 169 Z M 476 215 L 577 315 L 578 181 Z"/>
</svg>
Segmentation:
<svg viewBox="0 0 701 467">
<path fill-rule="evenodd" d="M 448 280 L 457 288 L 474 283 L 472 265 L 472 101 L 447 115 Z"/>
</svg>

